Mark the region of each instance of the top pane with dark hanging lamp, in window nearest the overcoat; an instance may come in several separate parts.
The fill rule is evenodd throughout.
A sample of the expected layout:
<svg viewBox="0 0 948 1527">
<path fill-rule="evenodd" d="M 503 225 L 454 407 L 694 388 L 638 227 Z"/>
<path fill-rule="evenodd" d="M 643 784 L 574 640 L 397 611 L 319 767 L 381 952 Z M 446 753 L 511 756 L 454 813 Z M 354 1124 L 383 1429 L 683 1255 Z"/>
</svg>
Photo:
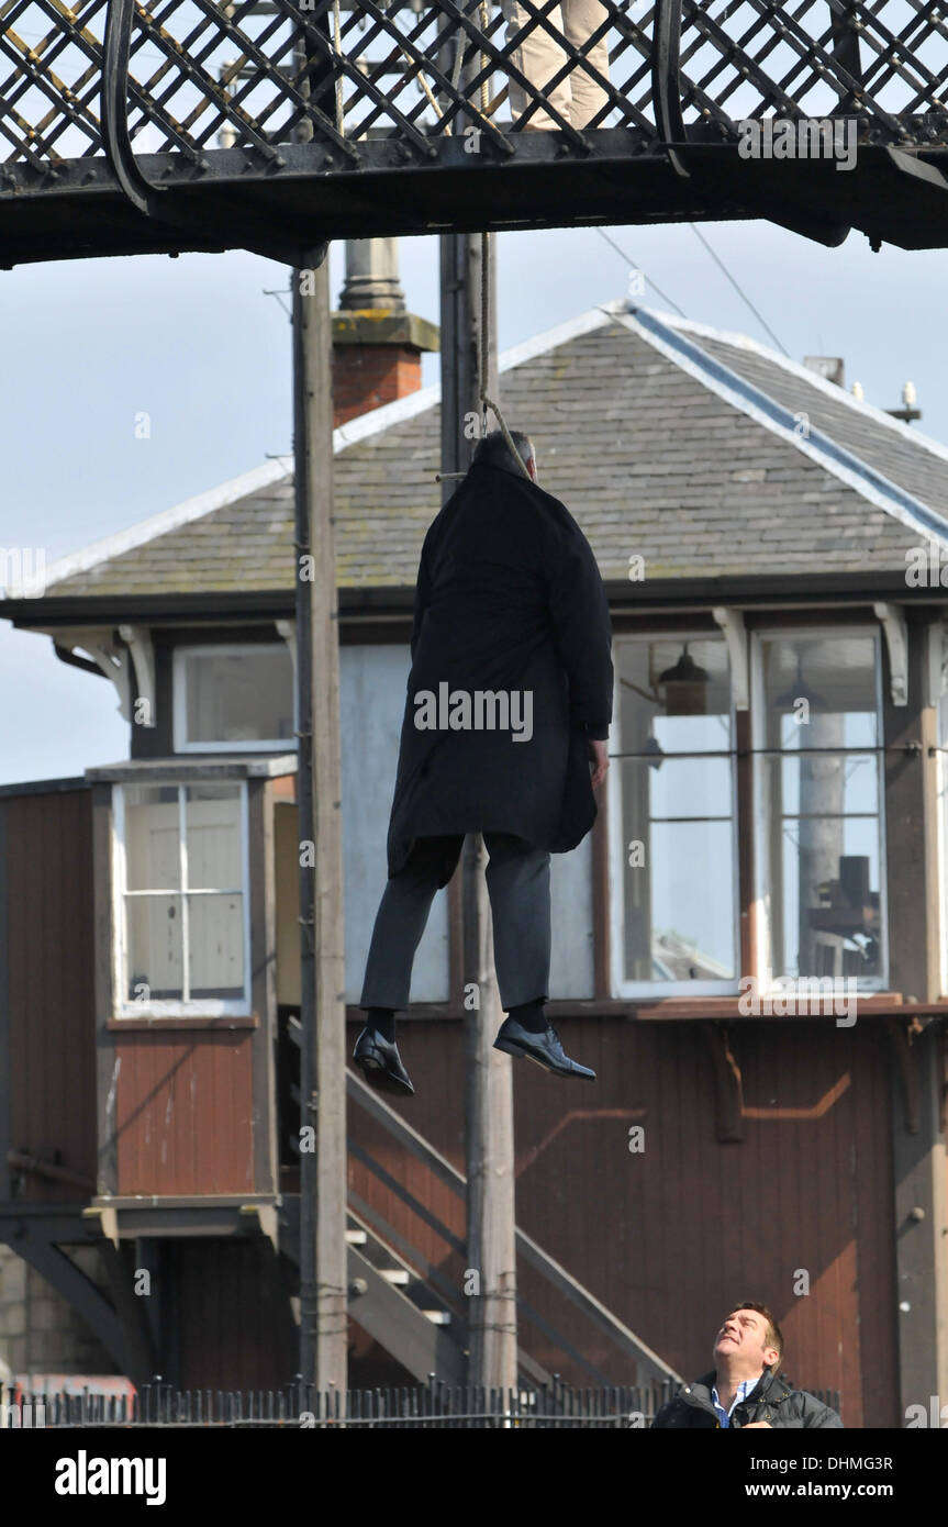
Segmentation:
<svg viewBox="0 0 948 1527">
<path fill-rule="evenodd" d="M 617 641 L 621 750 L 716 753 L 731 747 L 731 676 L 724 638 Z"/>
</svg>

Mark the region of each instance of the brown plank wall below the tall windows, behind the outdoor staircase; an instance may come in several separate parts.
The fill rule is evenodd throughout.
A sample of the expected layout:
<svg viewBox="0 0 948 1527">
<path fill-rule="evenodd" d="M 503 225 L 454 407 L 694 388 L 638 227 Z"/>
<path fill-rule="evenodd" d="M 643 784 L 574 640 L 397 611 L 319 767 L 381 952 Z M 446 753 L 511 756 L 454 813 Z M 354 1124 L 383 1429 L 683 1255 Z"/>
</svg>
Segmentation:
<svg viewBox="0 0 948 1527">
<path fill-rule="evenodd" d="M 892 1223 L 890 1061 L 870 1020 L 733 1025 L 743 1075 L 742 1142 L 719 1144 L 707 1040 L 695 1025 L 574 1019 L 566 1052 L 592 1086 L 514 1064 L 518 1223 L 687 1377 L 711 1362 L 733 1301 L 768 1304 L 786 1339 L 785 1371 L 843 1393 L 849 1426 L 898 1426 Z M 353 1028 L 354 1037 L 354 1028 Z M 398 1110 L 463 1170 L 461 1026 L 405 1023 L 415 1098 Z M 644 1125 L 644 1153 L 629 1128 Z M 350 1133 L 377 1148 L 353 1107 Z M 385 1165 L 463 1234 L 458 1200 L 400 1153 Z M 350 1185 L 455 1281 L 461 1258 L 357 1161 Z M 801 1287 L 809 1277 L 809 1295 Z M 612 1382 L 629 1364 L 521 1266 L 521 1292 Z M 591 1382 L 530 1325 L 522 1341 L 550 1370 Z"/>
</svg>

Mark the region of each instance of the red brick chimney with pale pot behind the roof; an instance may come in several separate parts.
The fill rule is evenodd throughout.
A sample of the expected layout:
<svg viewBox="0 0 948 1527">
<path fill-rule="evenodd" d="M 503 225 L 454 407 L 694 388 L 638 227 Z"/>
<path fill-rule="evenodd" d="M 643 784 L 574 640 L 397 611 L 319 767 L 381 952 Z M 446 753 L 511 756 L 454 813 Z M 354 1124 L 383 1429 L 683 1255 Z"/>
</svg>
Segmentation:
<svg viewBox="0 0 948 1527">
<path fill-rule="evenodd" d="M 350 238 L 345 286 L 333 313 L 334 425 L 421 386 L 421 353 L 438 350 L 435 324 L 405 307 L 395 238 Z"/>
</svg>

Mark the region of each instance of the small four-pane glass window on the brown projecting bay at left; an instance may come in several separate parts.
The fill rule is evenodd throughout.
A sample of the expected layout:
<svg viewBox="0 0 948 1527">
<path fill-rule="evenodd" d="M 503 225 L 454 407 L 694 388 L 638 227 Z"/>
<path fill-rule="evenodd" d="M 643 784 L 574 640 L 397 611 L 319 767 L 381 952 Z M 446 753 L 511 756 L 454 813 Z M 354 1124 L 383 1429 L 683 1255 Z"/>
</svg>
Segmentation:
<svg viewBox="0 0 948 1527">
<path fill-rule="evenodd" d="M 116 786 L 124 1017 L 246 1012 L 246 786 Z"/>
</svg>

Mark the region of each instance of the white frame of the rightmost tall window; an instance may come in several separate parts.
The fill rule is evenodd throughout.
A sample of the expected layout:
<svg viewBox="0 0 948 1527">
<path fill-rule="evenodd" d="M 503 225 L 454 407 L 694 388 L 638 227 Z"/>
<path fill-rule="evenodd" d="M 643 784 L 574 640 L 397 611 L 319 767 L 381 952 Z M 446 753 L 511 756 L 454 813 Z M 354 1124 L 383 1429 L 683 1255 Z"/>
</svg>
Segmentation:
<svg viewBox="0 0 948 1527">
<path fill-rule="evenodd" d="M 765 712 L 765 695 L 763 695 L 763 643 L 772 638 L 794 638 L 801 637 L 803 640 L 841 640 L 847 637 L 872 637 L 875 654 L 876 654 L 876 721 L 878 721 L 878 741 L 875 748 L 866 748 L 866 753 L 876 754 L 876 799 L 879 802 L 879 939 L 882 945 L 882 970 L 878 976 L 859 976 L 856 977 L 856 991 L 887 991 L 888 989 L 888 854 L 887 854 L 887 837 L 885 837 L 885 709 L 882 695 L 882 628 L 879 625 L 824 625 L 824 626 L 760 626 L 751 631 L 751 750 L 753 750 L 753 800 L 754 800 L 754 904 L 757 915 L 757 970 L 753 973 L 760 994 L 766 994 L 774 989 L 774 982 L 780 980 L 780 976 L 774 976 L 774 982 L 766 982 L 768 971 L 772 971 L 774 960 L 774 939 L 772 939 L 772 922 L 771 922 L 771 898 L 769 898 L 769 864 L 768 864 L 768 834 L 766 834 L 766 812 L 765 812 L 765 788 L 763 788 L 763 771 L 768 765 L 768 754 L 762 750 L 766 748 L 766 712 Z M 832 748 L 829 751 L 834 751 Z M 786 750 L 786 756 L 792 756 L 792 750 Z M 775 754 L 769 754 L 775 757 Z M 785 977 L 792 980 L 794 977 Z M 795 979 L 809 980 L 809 973 L 806 977 L 800 976 Z"/>
</svg>

